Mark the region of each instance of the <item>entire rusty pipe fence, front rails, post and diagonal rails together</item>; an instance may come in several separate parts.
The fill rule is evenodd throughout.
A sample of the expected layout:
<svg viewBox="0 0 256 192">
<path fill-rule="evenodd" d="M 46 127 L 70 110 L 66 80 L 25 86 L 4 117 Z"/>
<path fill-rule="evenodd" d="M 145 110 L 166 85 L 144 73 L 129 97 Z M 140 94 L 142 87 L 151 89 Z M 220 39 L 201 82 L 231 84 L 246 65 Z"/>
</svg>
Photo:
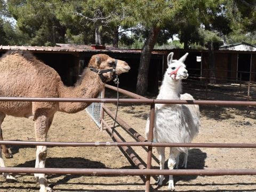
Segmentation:
<svg viewBox="0 0 256 192">
<path fill-rule="evenodd" d="M 108 88 L 115 90 L 115 87 L 108 85 Z M 122 140 L 116 139 L 118 142 L 33 142 L 33 141 L 0 141 L 0 144 L 5 145 L 47 145 L 47 146 L 95 146 L 95 147 L 107 147 L 107 146 L 122 146 L 127 149 L 129 146 L 147 146 L 147 167 L 142 166 L 140 162 L 135 159 L 135 164 L 140 169 L 65 169 L 65 168 L 28 168 L 28 167 L 1 167 L 0 172 L 12 172 L 12 173 L 54 173 L 54 174 L 93 174 L 93 175 L 146 175 L 146 191 L 149 191 L 150 187 L 150 175 L 256 175 L 256 170 L 154 170 L 151 169 L 151 158 L 153 147 L 215 147 L 215 148 L 256 148 L 256 143 L 155 143 L 150 142 L 153 140 L 153 125 L 155 115 L 155 104 L 187 104 L 187 105 L 224 105 L 224 106 L 256 106 L 255 101 L 209 101 L 209 100 L 157 100 L 147 99 L 136 95 L 130 94 L 125 90 L 121 90 L 125 94 L 135 97 L 136 99 L 119 99 L 120 103 L 146 103 L 150 105 L 150 129 L 149 129 L 149 141 L 145 141 L 142 136 L 139 138 L 139 133 L 134 132 L 133 129 L 127 129 L 133 132 L 134 137 L 142 142 L 122 142 Z M 19 102 L 117 102 L 117 99 L 82 99 L 82 98 L 5 98 L 0 97 L 0 101 L 19 101 Z M 105 107 L 106 108 L 106 107 Z M 102 111 L 102 110 L 101 110 Z M 102 116 L 101 116 L 102 118 Z M 122 124 L 122 123 L 121 123 Z M 126 128 L 129 126 L 123 123 Z M 109 130 L 109 126 L 105 122 L 105 126 Z M 131 128 L 131 127 L 130 127 Z M 127 150 L 126 150 L 127 153 Z M 130 157 L 134 158 L 132 151 L 129 152 Z M 145 169 L 146 168 L 146 169 Z"/>
</svg>

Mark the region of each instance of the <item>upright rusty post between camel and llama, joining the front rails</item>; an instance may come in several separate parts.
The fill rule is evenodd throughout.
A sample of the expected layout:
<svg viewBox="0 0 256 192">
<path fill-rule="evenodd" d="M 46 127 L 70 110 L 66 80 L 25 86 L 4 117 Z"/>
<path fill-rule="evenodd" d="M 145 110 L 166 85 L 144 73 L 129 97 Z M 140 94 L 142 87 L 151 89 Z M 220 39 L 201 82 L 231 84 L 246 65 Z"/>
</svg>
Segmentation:
<svg viewBox="0 0 256 192">
<path fill-rule="evenodd" d="M 155 103 L 150 105 L 150 114 L 149 114 L 149 135 L 148 140 L 153 141 L 153 132 L 154 132 L 154 119 L 155 119 Z M 148 146 L 148 157 L 147 157 L 147 169 L 151 169 L 152 161 L 152 147 Z M 146 192 L 149 192 L 150 189 L 150 175 L 146 177 Z"/>
</svg>

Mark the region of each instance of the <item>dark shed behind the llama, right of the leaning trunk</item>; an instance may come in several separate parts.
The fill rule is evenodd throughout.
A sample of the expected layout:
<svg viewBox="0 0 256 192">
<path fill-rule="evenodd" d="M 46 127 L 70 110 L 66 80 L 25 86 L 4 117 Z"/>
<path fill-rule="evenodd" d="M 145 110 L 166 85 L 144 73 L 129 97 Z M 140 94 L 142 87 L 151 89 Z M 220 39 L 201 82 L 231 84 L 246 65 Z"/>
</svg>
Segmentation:
<svg viewBox="0 0 256 192">
<path fill-rule="evenodd" d="M 174 52 L 174 59 L 179 59 L 188 52 L 185 64 L 189 70 L 190 76 L 210 77 L 209 53 L 208 50 L 159 50 L 165 54 L 164 63 L 166 63 L 167 54 Z M 214 52 L 215 56 L 215 76 L 217 82 L 226 81 L 252 81 L 256 82 L 256 51 L 251 50 L 218 50 Z M 166 66 L 164 66 L 166 68 Z"/>
</svg>

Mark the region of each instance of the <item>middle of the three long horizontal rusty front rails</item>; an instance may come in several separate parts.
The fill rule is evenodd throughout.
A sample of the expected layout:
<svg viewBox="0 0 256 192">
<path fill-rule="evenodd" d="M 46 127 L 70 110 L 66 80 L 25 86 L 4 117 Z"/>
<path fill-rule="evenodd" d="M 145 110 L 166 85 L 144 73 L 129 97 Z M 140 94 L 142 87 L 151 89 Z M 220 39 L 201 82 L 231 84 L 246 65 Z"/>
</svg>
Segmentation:
<svg viewBox="0 0 256 192">
<path fill-rule="evenodd" d="M 107 125 L 107 124 L 105 124 Z M 0 145 L 35 145 L 59 147 L 111 147 L 111 146 L 150 146 L 150 147 L 209 147 L 209 148 L 256 148 L 256 143 L 161 143 L 161 142 L 50 142 L 50 141 L 0 141 Z"/>
</svg>

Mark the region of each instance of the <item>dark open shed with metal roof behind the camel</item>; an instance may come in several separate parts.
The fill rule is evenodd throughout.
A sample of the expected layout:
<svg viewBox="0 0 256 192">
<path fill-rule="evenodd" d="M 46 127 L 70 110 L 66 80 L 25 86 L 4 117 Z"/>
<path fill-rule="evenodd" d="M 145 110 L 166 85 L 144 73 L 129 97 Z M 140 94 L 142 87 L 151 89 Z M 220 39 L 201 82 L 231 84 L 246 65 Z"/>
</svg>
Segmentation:
<svg viewBox="0 0 256 192">
<path fill-rule="evenodd" d="M 124 50 L 106 47 L 106 50 L 93 50 L 88 45 L 58 44 L 54 47 L 45 46 L 0 46 L 0 56 L 8 50 L 28 50 L 46 65 L 57 70 L 63 83 L 72 86 L 87 66 L 94 54 L 105 53 L 110 57 L 126 61 L 131 70 L 119 76 L 120 87 L 134 91 L 137 85 L 140 50 Z M 158 92 L 158 81 L 162 77 L 163 53 L 154 52 L 149 68 L 149 92 Z M 113 84 L 109 82 L 109 84 Z"/>
</svg>

